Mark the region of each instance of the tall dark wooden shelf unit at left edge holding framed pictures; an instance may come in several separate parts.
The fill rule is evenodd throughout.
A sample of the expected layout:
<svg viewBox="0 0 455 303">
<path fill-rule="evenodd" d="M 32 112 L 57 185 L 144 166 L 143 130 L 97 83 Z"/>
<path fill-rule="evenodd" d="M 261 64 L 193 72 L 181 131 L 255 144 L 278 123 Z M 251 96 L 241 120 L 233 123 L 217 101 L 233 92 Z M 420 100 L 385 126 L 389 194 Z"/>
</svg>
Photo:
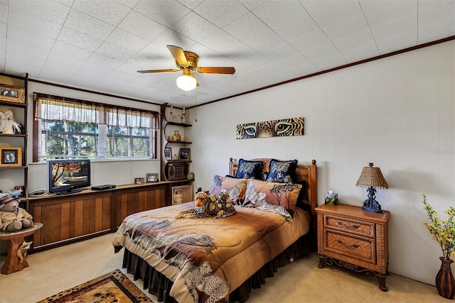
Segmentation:
<svg viewBox="0 0 455 303">
<path fill-rule="evenodd" d="M 1 133 L 0 150 L 0 189 L 4 192 L 14 190 L 14 187 L 23 187 L 22 201 L 28 196 L 27 188 L 27 84 L 26 77 L 0 75 L 0 111 L 12 113 L 12 121 L 19 123 L 21 131 Z M 14 153 L 15 160 L 6 159 L 6 153 Z M 8 155 L 9 157 L 9 155 Z M 21 207 L 25 208 L 25 202 Z"/>
</svg>

